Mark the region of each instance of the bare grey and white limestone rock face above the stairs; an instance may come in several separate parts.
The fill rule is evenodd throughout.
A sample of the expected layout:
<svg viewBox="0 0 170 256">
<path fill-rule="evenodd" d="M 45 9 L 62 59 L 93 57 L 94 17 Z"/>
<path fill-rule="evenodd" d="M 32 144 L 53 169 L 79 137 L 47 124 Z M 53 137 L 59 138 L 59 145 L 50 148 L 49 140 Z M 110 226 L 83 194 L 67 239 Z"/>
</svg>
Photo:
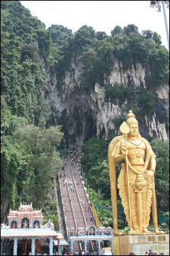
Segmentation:
<svg viewBox="0 0 170 256">
<path fill-rule="evenodd" d="M 126 116 L 129 106 L 125 100 L 122 106 L 112 104 L 105 100 L 105 87 L 98 83 L 90 95 L 81 93 L 81 74 L 82 62 L 74 59 L 71 63 L 70 71 L 65 72 L 62 81 L 62 92 L 56 89 L 56 76 L 48 73 L 47 83 L 50 87 L 48 94 L 44 91 L 44 101 L 50 106 L 50 120 L 48 125 L 63 124 L 65 137 L 68 143 L 82 144 L 84 140 L 92 136 L 107 139 L 109 132 L 116 129 L 115 118 Z M 131 70 L 121 71 L 118 61 L 114 59 L 114 65 L 110 76 L 105 76 L 105 85 L 122 83 L 128 86 L 134 83 L 135 87 L 146 88 L 145 76 L 150 73 L 137 64 Z M 76 91 L 78 88 L 79 93 Z M 158 100 L 154 106 L 152 117 L 143 116 L 139 121 L 139 130 L 142 137 L 156 137 L 161 140 L 169 139 L 169 132 L 166 125 L 167 110 L 169 109 L 169 87 L 165 85 L 158 91 Z M 126 106 L 126 111 L 124 111 Z M 136 117 L 137 118 L 137 117 Z M 67 136 L 68 135 L 68 136 Z M 67 139 L 66 139 L 67 140 Z"/>
</svg>

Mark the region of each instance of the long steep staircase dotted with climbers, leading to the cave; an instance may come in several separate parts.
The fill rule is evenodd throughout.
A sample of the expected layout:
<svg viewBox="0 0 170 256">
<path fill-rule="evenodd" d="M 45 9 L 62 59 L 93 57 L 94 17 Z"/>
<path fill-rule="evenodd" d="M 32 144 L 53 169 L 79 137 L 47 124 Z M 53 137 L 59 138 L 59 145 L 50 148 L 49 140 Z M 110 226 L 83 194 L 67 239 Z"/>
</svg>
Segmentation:
<svg viewBox="0 0 170 256">
<path fill-rule="evenodd" d="M 58 175 L 67 229 L 76 229 L 77 227 L 86 227 L 87 225 L 96 226 L 93 217 L 91 220 L 92 211 L 84 191 L 76 162 L 77 158 L 75 156 L 67 158 L 65 168 L 62 169 Z M 65 180 L 67 180 L 66 184 Z M 77 182 L 79 182 L 79 184 L 77 184 Z M 80 200 L 82 203 L 80 203 Z M 87 251 L 92 251 L 92 247 L 92 243 L 88 243 Z M 82 250 L 80 242 L 73 242 L 73 252 L 79 250 Z"/>
</svg>

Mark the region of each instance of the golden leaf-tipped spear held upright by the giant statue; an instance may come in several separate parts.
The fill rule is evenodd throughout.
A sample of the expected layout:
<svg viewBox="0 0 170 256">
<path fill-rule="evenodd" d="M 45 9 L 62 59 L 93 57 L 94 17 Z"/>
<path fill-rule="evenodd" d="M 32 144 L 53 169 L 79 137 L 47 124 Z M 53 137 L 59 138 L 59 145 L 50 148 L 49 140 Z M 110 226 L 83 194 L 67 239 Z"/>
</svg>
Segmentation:
<svg viewBox="0 0 170 256">
<path fill-rule="evenodd" d="M 130 132 L 129 126 L 126 124 L 126 122 L 123 122 L 120 126 L 120 132 L 122 133 L 124 137 L 124 145 L 126 146 L 126 137 L 127 134 Z M 126 156 L 126 171 L 127 171 L 127 182 L 128 182 L 128 196 L 129 196 L 129 215 L 130 215 L 130 221 L 131 221 L 131 229 L 132 229 L 132 216 L 131 216 L 131 198 L 130 198 L 130 188 L 129 188 L 129 169 L 128 169 L 128 158 L 127 158 L 127 151 L 125 151 Z"/>
</svg>

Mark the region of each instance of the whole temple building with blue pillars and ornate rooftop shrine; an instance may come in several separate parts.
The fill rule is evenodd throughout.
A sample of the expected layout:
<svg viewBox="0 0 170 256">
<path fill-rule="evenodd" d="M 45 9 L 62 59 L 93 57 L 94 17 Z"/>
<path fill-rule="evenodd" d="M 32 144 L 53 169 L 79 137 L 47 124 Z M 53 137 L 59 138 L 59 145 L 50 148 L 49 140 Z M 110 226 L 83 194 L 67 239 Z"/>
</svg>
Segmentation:
<svg viewBox="0 0 170 256">
<path fill-rule="evenodd" d="M 42 225 L 44 216 L 40 210 L 33 210 L 30 205 L 20 203 L 19 210 L 11 210 L 7 216 L 8 226 L 1 224 L 1 255 L 35 255 L 36 253 L 48 253 L 53 255 L 61 248 L 56 244 L 67 245 L 60 233 L 54 231 L 51 220 Z M 58 236 L 60 235 L 60 236 Z"/>
</svg>

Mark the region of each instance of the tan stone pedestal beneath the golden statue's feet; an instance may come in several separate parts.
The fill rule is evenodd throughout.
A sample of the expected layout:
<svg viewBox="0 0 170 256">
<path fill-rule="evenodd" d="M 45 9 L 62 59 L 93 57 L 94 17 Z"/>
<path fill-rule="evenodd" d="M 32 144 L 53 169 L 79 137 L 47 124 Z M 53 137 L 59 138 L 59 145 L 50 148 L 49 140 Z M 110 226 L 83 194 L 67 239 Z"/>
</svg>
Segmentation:
<svg viewBox="0 0 170 256">
<path fill-rule="evenodd" d="M 169 234 L 114 236 L 112 240 L 114 255 L 144 255 L 149 249 L 157 254 L 169 255 Z"/>
</svg>

